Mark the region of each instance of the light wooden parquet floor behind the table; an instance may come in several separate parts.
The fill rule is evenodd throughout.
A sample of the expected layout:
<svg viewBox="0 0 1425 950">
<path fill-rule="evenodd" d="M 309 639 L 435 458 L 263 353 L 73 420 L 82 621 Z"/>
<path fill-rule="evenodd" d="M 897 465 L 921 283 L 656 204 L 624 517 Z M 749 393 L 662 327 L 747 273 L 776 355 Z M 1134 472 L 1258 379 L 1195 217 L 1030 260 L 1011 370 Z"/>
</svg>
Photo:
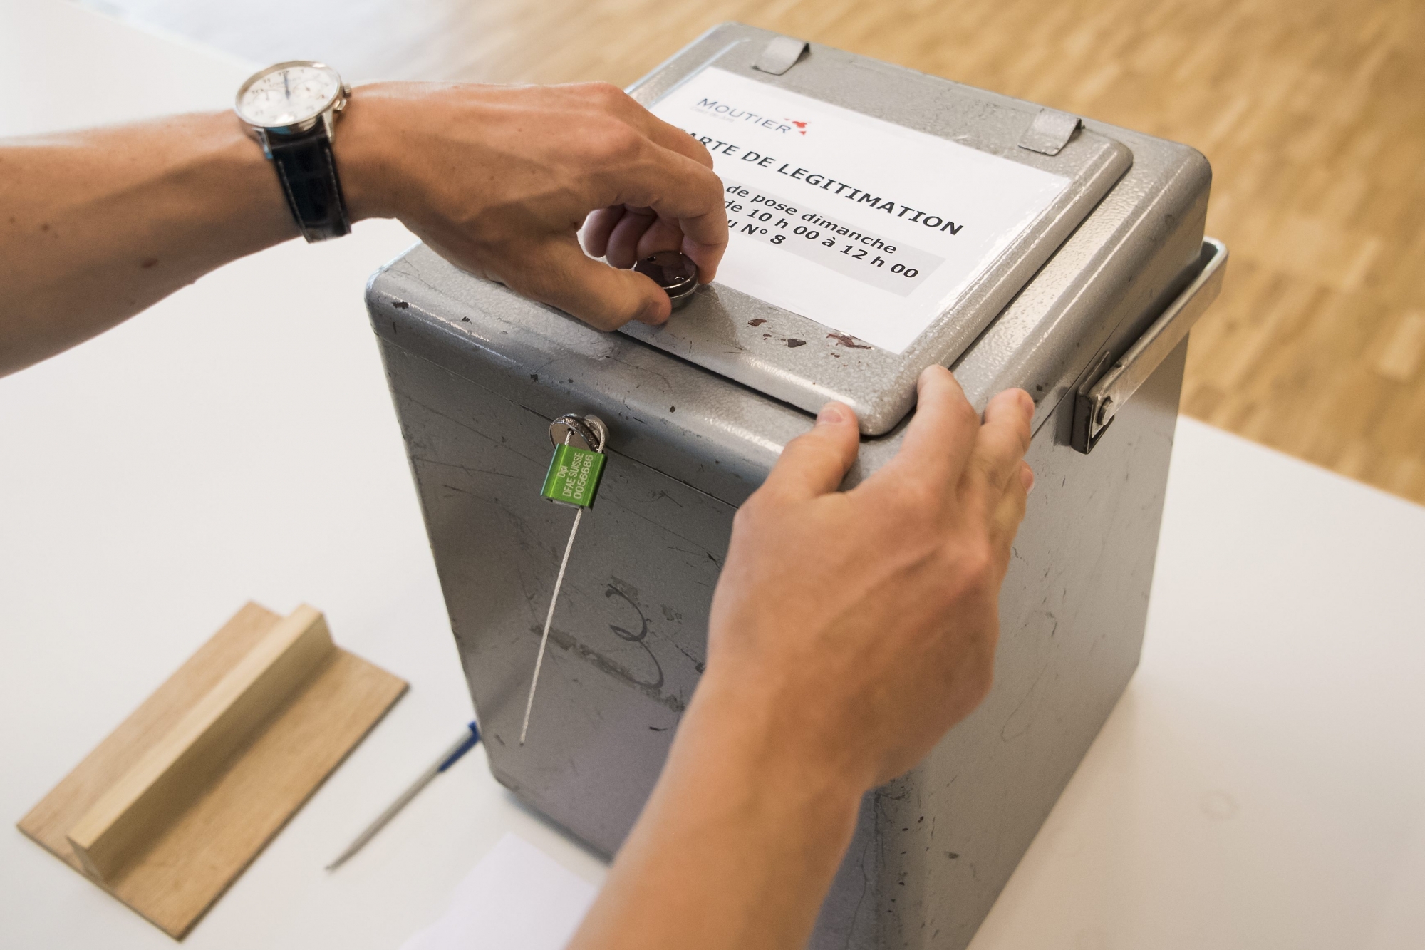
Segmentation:
<svg viewBox="0 0 1425 950">
<path fill-rule="evenodd" d="M 1233 262 L 1186 411 L 1425 502 L 1421 0 L 93 3 L 358 78 L 627 84 L 741 20 L 1188 143 Z"/>
</svg>

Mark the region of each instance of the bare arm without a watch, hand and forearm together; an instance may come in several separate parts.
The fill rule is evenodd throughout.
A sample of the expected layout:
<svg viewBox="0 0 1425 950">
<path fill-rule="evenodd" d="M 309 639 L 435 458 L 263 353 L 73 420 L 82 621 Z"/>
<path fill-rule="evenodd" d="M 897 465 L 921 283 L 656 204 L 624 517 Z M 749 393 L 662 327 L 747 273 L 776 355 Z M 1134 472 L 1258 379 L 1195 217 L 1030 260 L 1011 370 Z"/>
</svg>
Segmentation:
<svg viewBox="0 0 1425 950">
<path fill-rule="evenodd" d="M 862 795 L 989 690 L 1032 417 L 1010 389 L 980 424 L 932 367 L 901 452 L 856 488 L 836 491 L 846 407 L 787 445 L 732 522 L 707 670 L 571 949 L 807 944 Z"/>
</svg>

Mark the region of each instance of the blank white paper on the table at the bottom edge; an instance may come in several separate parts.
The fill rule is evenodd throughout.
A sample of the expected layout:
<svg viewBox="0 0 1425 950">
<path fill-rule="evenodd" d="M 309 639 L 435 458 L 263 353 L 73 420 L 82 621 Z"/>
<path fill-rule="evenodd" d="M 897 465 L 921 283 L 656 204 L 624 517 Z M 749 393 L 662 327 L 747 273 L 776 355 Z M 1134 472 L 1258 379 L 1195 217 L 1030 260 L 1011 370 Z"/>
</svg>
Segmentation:
<svg viewBox="0 0 1425 950">
<path fill-rule="evenodd" d="M 455 889 L 445 916 L 400 950 L 561 950 L 594 893 L 593 884 L 506 833 Z"/>
</svg>

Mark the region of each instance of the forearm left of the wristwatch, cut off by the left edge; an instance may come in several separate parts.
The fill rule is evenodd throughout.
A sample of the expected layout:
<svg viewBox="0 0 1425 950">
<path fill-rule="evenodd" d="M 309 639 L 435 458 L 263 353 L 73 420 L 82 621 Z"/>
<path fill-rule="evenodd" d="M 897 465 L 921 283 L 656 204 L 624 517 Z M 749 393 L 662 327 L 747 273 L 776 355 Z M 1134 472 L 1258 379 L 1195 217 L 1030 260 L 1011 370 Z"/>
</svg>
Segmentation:
<svg viewBox="0 0 1425 950">
<path fill-rule="evenodd" d="M 296 234 L 231 113 L 0 143 L 0 374 Z"/>
</svg>

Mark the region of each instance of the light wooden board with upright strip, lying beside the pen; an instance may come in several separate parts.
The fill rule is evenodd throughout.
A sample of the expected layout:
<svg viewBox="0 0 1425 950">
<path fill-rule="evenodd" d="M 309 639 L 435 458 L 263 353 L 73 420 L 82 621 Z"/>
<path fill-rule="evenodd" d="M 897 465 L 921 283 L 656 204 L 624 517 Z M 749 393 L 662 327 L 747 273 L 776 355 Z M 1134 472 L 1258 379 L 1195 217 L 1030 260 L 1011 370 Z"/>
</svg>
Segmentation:
<svg viewBox="0 0 1425 950">
<path fill-rule="evenodd" d="M 248 603 L 20 830 L 182 937 L 405 689 L 315 609 Z"/>
</svg>

